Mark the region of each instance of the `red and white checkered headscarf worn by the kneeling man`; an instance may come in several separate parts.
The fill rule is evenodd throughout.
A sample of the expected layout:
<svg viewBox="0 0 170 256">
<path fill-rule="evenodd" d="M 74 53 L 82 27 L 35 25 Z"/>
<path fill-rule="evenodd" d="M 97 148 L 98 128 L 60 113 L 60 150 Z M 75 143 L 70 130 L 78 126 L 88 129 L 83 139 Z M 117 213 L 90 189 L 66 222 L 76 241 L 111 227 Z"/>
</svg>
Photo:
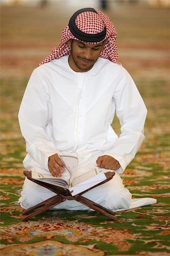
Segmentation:
<svg viewBox="0 0 170 256">
<path fill-rule="evenodd" d="M 77 15 L 75 19 L 76 27 L 87 34 L 98 34 L 103 31 L 103 28 L 106 27 L 106 40 L 105 45 L 103 46 L 103 49 L 99 55 L 99 57 L 102 57 L 104 59 L 108 59 L 114 63 L 118 63 L 118 52 L 117 52 L 117 46 L 115 44 L 115 40 L 117 39 L 117 31 L 111 22 L 110 18 L 102 13 L 102 11 L 94 9 L 96 11 L 84 11 Z M 65 55 L 69 55 L 71 52 L 71 47 L 68 45 L 68 40 L 74 39 L 74 40 L 80 40 L 77 39 L 69 29 L 69 26 L 67 26 L 63 31 L 61 35 L 61 43 L 59 44 L 59 47 L 53 48 L 51 55 L 48 55 L 46 59 L 40 63 L 40 65 L 44 63 L 48 63 L 51 60 L 58 59 L 60 57 L 63 57 Z M 87 42 L 87 40 L 86 40 Z M 88 42 L 89 44 L 97 44 L 100 42 Z"/>
</svg>

